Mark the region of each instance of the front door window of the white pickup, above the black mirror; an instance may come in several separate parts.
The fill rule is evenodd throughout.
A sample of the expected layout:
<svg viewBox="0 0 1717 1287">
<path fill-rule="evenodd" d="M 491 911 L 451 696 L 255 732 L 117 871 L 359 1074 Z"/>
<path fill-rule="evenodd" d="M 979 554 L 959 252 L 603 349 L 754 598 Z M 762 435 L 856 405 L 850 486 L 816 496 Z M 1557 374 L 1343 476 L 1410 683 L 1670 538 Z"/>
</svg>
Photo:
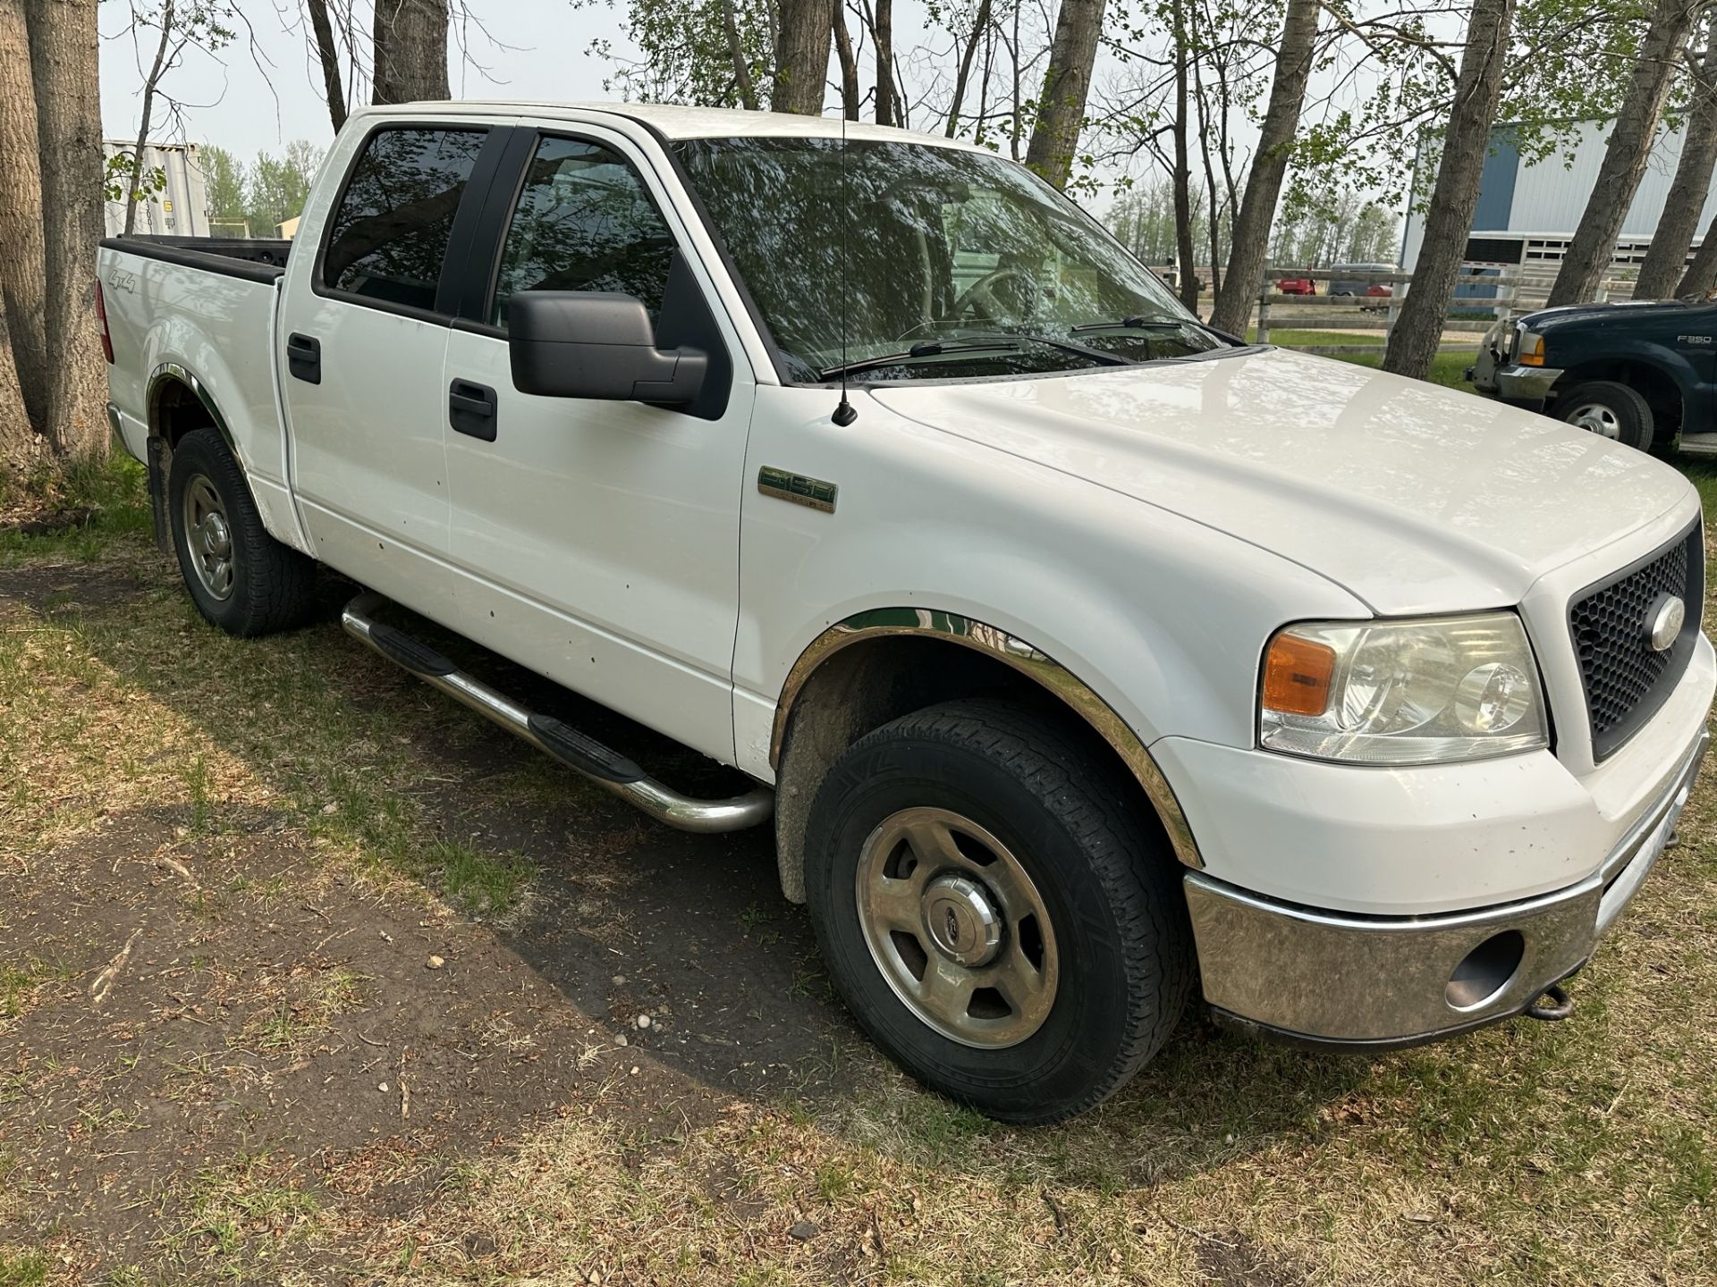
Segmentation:
<svg viewBox="0 0 1717 1287">
<path fill-rule="evenodd" d="M 596 142 L 543 139 L 501 247 L 489 321 L 520 290 L 618 290 L 661 311 L 673 237 L 625 158 Z"/>
</svg>

